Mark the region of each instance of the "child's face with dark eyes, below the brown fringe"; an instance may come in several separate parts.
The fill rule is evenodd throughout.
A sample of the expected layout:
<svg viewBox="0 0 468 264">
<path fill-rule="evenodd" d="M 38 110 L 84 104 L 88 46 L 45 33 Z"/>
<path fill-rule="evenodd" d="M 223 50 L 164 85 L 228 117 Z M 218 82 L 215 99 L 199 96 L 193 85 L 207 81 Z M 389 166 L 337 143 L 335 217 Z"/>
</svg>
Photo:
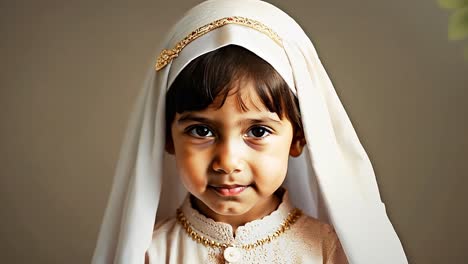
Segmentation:
<svg viewBox="0 0 468 264">
<path fill-rule="evenodd" d="M 247 110 L 234 94 L 221 108 L 177 113 L 172 122 L 170 152 L 178 173 L 211 215 L 245 217 L 271 208 L 273 193 L 286 177 L 291 146 L 297 146 L 291 145 L 291 122 L 269 112 L 252 85 L 238 91 Z M 212 105 L 219 105 L 218 99 Z"/>
</svg>

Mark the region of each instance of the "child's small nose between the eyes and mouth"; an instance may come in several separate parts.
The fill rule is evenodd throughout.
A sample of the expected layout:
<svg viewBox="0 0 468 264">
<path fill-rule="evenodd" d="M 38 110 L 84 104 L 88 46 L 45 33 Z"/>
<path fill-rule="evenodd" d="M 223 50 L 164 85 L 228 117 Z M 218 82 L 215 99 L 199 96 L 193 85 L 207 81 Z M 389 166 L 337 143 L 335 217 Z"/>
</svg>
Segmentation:
<svg viewBox="0 0 468 264">
<path fill-rule="evenodd" d="M 215 155 L 212 162 L 214 171 L 221 174 L 241 172 L 242 144 L 236 140 L 222 140 L 216 144 Z"/>
</svg>

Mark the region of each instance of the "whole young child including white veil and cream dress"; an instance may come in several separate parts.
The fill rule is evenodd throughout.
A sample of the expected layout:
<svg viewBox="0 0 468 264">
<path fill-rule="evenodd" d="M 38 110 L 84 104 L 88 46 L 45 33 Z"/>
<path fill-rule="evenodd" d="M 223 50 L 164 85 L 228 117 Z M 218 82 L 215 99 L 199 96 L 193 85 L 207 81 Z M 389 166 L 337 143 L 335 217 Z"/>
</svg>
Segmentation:
<svg viewBox="0 0 468 264">
<path fill-rule="evenodd" d="M 93 263 L 145 256 L 407 263 L 312 43 L 274 6 L 206 1 L 163 41 L 131 117 Z"/>
</svg>

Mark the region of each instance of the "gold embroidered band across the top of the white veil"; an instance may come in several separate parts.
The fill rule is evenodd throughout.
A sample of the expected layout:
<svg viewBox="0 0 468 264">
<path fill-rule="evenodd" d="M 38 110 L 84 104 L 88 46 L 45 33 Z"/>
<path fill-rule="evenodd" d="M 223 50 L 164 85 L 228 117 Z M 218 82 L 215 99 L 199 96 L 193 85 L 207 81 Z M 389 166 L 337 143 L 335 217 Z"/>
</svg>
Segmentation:
<svg viewBox="0 0 468 264">
<path fill-rule="evenodd" d="M 161 51 L 161 54 L 159 54 L 157 60 L 156 60 L 156 71 L 161 70 L 164 68 L 169 62 L 171 62 L 174 58 L 179 56 L 180 51 L 185 48 L 190 42 L 196 40 L 197 38 L 205 35 L 206 33 L 217 29 L 219 27 L 222 27 L 227 24 L 238 24 L 238 25 L 243 25 L 246 27 L 253 28 L 261 33 L 264 33 L 271 39 L 273 39 L 278 45 L 281 47 L 283 46 L 281 44 L 281 38 L 279 37 L 276 32 L 274 32 L 272 29 L 267 27 L 265 24 L 250 19 L 250 18 L 245 18 L 245 17 L 239 17 L 239 16 L 233 16 L 233 17 L 225 17 L 218 19 L 214 22 L 211 22 L 210 24 L 204 25 L 202 27 L 197 28 L 196 30 L 192 31 L 187 37 L 185 37 L 183 40 L 181 40 L 179 43 L 175 45 L 173 49 L 164 49 Z"/>
</svg>

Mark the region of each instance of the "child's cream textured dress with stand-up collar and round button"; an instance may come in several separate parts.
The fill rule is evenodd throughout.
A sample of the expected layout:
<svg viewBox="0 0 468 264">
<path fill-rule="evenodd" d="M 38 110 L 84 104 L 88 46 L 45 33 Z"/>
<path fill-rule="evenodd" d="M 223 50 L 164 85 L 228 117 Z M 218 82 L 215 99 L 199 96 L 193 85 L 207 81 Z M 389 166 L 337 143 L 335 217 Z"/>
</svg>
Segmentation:
<svg viewBox="0 0 468 264">
<path fill-rule="evenodd" d="M 235 236 L 229 224 L 215 222 L 191 207 L 187 197 L 181 207 L 190 227 L 198 235 L 219 243 L 246 245 L 266 238 L 277 231 L 294 209 L 287 192 L 278 209 L 262 219 L 239 226 Z M 186 229 L 170 218 L 158 224 L 147 250 L 151 264 L 193 263 L 327 263 L 346 264 L 338 237 L 328 224 L 301 215 L 281 235 L 253 249 L 212 248 L 192 239 Z"/>
</svg>

